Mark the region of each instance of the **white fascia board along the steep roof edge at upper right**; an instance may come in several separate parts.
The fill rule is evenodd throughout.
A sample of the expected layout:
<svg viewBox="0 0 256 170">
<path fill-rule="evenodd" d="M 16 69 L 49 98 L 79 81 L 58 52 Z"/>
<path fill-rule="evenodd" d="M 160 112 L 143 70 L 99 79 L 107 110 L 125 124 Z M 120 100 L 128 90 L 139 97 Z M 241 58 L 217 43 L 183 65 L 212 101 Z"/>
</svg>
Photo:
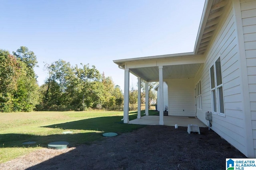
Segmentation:
<svg viewBox="0 0 256 170">
<path fill-rule="evenodd" d="M 206 0 L 204 3 L 204 10 L 202 12 L 202 18 L 200 21 L 200 25 L 199 25 L 199 29 L 198 29 L 198 33 L 197 33 L 197 37 L 196 37 L 196 43 L 195 43 L 195 47 L 194 47 L 195 54 L 198 52 L 200 41 L 204 34 L 204 28 L 205 28 L 206 22 L 208 20 L 208 16 L 210 14 L 210 10 L 212 8 L 212 2 L 213 2 L 213 0 Z"/>
</svg>

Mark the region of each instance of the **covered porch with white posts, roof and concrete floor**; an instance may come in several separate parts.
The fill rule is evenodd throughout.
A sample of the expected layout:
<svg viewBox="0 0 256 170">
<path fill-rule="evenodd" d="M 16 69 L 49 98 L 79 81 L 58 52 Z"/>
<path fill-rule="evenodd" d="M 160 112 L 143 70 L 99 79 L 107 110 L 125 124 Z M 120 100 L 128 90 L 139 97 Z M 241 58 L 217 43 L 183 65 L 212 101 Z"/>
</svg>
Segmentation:
<svg viewBox="0 0 256 170">
<path fill-rule="evenodd" d="M 204 123 L 193 123 L 194 120 L 188 117 L 196 117 L 196 101 L 195 101 L 195 80 L 194 77 L 200 71 L 204 63 L 203 55 L 195 55 L 194 53 L 181 53 L 174 55 L 161 55 L 141 57 L 134 59 L 116 60 L 119 68 L 124 70 L 124 123 L 132 124 L 150 124 L 150 125 L 170 125 L 180 124 L 187 126 L 188 124 L 198 124 L 205 127 Z M 148 101 L 148 83 L 159 82 L 159 96 L 157 105 L 159 108 L 159 116 L 151 117 L 148 114 L 148 102 L 146 102 L 145 116 L 140 116 L 141 103 L 138 102 L 138 119 L 129 121 L 129 85 L 132 73 L 138 77 L 138 101 L 140 101 L 141 83 L 145 83 L 145 101 Z M 168 116 L 164 116 L 164 98 L 163 84 L 168 84 Z M 170 94 L 169 94 L 170 92 Z M 180 119 L 175 119 L 175 116 Z M 177 117 L 176 117 L 177 118 Z M 187 120 L 187 119 L 189 120 Z M 191 123 L 189 123 L 191 121 Z"/>
</svg>

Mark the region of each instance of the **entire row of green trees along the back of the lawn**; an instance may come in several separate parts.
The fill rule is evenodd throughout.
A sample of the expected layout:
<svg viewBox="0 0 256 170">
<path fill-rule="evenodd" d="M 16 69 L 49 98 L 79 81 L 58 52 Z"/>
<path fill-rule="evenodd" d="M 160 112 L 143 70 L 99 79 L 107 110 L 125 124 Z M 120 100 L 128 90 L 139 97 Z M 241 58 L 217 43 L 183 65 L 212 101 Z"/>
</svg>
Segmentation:
<svg viewBox="0 0 256 170">
<path fill-rule="evenodd" d="M 112 78 L 100 74 L 94 65 L 72 66 L 58 60 L 46 63 L 47 78 L 38 86 L 34 67 L 36 55 L 27 47 L 16 52 L 0 49 L 0 112 L 15 111 L 84 111 L 86 109 L 122 110 L 124 96 L 120 86 Z M 153 86 L 149 86 L 149 101 L 155 98 Z M 130 90 L 131 109 L 136 109 L 138 90 Z M 145 87 L 142 84 L 141 103 L 145 103 Z M 150 106 L 150 105 L 149 105 Z"/>
</svg>

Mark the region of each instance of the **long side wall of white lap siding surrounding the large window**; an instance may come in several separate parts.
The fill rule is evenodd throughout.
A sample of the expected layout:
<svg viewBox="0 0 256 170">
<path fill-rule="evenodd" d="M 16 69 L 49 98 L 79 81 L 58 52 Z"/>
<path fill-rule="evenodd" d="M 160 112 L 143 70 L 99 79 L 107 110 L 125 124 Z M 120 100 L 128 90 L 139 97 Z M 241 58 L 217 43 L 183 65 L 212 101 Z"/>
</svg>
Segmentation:
<svg viewBox="0 0 256 170">
<path fill-rule="evenodd" d="M 224 9 L 214 38 L 206 51 L 204 66 L 198 71 L 196 80 L 202 83 L 202 111 L 197 111 L 197 117 L 205 124 L 205 113 L 212 111 L 212 90 L 210 68 L 221 55 L 222 90 L 224 98 L 224 116 L 212 114 L 212 129 L 231 145 L 246 153 L 246 138 L 244 136 L 244 113 L 242 104 L 242 82 L 240 70 L 240 56 L 238 37 L 232 1 L 228 1 Z M 215 68 L 214 68 L 215 69 Z M 214 70 L 214 74 L 216 74 Z M 215 84 L 216 86 L 216 84 Z M 217 86 L 220 87 L 220 86 Z M 216 87 L 215 87 L 216 88 Z M 221 89 L 216 89 L 221 90 Z M 216 94 L 214 91 L 213 93 Z M 220 95 L 219 95 L 220 96 Z M 216 96 L 217 97 L 217 96 Z M 216 111 L 218 111 L 218 98 L 216 98 Z"/>
</svg>

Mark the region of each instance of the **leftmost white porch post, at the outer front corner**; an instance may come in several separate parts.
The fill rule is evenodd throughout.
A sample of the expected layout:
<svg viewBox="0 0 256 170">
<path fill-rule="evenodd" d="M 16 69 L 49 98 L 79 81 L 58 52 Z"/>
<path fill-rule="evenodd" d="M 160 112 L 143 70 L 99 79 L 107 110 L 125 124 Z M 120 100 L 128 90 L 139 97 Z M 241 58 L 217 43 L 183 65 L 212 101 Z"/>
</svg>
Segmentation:
<svg viewBox="0 0 256 170">
<path fill-rule="evenodd" d="M 124 123 L 129 123 L 129 84 L 130 71 L 128 68 L 124 70 Z"/>
</svg>

